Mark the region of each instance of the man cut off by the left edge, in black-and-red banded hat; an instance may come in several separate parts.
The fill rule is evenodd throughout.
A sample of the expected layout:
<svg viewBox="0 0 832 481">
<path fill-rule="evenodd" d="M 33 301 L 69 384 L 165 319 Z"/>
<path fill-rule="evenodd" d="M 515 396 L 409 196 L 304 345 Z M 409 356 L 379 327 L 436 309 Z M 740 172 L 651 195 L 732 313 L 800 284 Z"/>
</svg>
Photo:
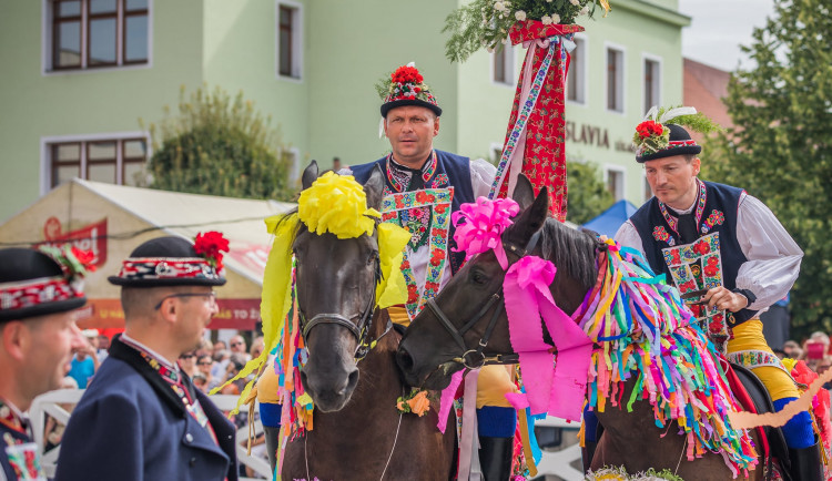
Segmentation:
<svg viewBox="0 0 832 481">
<path fill-rule="evenodd" d="M 87 342 L 73 313 L 84 273 L 69 249 L 0 249 L 0 479 L 45 479 L 23 412 L 61 387 Z"/>
</svg>

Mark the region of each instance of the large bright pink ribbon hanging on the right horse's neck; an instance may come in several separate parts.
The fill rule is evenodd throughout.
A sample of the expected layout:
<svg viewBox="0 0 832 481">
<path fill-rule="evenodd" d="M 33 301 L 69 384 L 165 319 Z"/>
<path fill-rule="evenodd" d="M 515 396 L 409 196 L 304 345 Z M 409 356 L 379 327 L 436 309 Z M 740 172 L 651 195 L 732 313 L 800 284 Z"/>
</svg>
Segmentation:
<svg viewBox="0 0 832 481">
<path fill-rule="evenodd" d="M 525 408 L 527 402 L 531 415 L 548 412 L 558 418 L 579 421 L 592 341 L 555 304 L 549 285 L 555 279 L 556 270 L 549 260 L 526 256 L 506 273 L 503 291 L 508 330 L 511 347 L 520 358 L 527 400 L 522 399 L 522 395 L 506 398 L 517 409 Z M 554 355 L 550 346 L 544 342 L 541 317 L 558 350 L 554 369 Z"/>
</svg>

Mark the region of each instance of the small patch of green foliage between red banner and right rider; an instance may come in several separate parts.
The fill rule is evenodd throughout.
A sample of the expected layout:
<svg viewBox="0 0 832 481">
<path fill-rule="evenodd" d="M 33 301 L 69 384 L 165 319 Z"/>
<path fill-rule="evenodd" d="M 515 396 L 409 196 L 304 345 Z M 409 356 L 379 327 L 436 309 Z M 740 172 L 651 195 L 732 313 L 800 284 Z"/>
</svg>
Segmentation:
<svg viewBox="0 0 832 481">
<path fill-rule="evenodd" d="M 615 202 L 607 190 L 598 167 L 591 163 L 567 161 L 568 221 L 585 224 L 602 213 Z"/>
</svg>

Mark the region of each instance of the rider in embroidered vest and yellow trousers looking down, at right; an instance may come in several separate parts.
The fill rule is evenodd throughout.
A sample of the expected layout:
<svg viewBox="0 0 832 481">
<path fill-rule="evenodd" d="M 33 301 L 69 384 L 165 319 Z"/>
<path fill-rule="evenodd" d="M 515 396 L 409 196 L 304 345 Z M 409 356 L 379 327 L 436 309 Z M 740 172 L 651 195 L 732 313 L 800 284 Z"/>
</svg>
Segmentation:
<svg viewBox="0 0 832 481">
<path fill-rule="evenodd" d="M 621 226 L 616 240 L 643 253 L 657 274 L 667 275 L 728 358 L 762 380 L 779 411 L 799 391 L 765 342 L 760 313 L 789 293 L 803 252 L 758 198 L 698 178 L 702 147 L 681 125 L 697 127 L 701 114 L 693 109 L 661 113 L 658 121 L 639 124 L 633 137 L 653 197 Z M 793 417 L 783 433 L 792 479 L 820 480 L 820 442 L 809 413 Z"/>
</svg>

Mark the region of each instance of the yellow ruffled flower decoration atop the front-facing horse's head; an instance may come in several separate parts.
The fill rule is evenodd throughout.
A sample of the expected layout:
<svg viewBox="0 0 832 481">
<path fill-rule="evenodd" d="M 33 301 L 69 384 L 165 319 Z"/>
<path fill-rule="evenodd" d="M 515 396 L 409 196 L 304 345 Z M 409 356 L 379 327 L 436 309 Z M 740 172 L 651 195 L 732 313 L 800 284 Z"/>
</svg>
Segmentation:
<svg viewBox="0 0 832 481">
<path fill-rule="evenodd" d="M 328 232 L 338 238 L 372 235 L 375 222 L 371 217 L 382 216 L 375 208 L 367 208 L 364 187 L 355 177 L 334 172 L 325 173 L 301 192 L 297 215 L 310 232 L 317 235 Z"/>
</svg>

